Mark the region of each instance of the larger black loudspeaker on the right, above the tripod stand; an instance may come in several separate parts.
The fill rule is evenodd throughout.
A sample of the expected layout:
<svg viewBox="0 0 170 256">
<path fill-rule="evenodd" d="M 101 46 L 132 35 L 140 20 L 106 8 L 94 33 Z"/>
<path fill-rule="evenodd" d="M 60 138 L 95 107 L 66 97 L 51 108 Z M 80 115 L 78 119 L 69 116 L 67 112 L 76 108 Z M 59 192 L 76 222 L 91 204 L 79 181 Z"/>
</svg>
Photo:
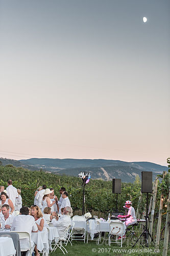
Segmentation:
<svg viewBox="0 0 170 256">
<path fill-rule="evenodd" d="M 142 171 L 141 178 L 142 178 L 141 192 L 152 193 L 152 171 Z"/>
</svg>

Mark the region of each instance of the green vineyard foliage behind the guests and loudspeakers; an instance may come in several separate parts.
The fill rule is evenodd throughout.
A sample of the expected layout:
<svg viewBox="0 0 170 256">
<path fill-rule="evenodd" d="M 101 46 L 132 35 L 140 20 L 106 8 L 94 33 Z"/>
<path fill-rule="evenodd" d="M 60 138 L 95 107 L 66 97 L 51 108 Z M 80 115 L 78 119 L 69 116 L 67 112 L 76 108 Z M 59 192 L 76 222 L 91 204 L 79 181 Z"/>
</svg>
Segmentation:
<svg viewBox="0 0 170 256">
<path fill-rule="evenodd" d="M 169 173 L 168 173 L 169 174 Z M 0 166 L 0 185 L 8 186 L 7 181 L 11 179 L 16 188 L 21 189 L 22 202 L 25 206 L 34 203 L 34 192 L 37 187 L 45 184 L 48 188 L 53 187 L 55 194 L 60 197 L 59 188 L 65 187 L 73 210 L 82 209 L 83 189 L 82 180 L 74 176 L 55 175 L 42 170 L 30 171 L 22 167 Z M 158 182 L 158 202 L 156 202 L 155 213 L 159 210 L 160 193 L 167 195 L 167 184 L 170 177 Z M 140 179 L 136 176 L 134 184 L 122 183 L 122 193 L 118 194 L 118 208 L 123 210 L 126 200 L 131 200 L 137 209 L 139 196 L 141 195 Z M 92 180 L 85 186 L 86 211 L 99 211 L 104 216 L 116 208 L 116 194 L 112 193 L 112 182 L 103 180 Z M 146 196 L 142 196 L 139 212 L 142 213 Z"/>
</svg>

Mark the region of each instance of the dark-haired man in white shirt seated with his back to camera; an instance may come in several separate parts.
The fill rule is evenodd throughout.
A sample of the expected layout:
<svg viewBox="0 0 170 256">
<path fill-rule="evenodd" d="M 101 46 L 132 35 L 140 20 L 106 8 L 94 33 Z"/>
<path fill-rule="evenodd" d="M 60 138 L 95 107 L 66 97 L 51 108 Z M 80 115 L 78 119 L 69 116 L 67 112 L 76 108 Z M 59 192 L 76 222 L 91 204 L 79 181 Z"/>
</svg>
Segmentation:
<svg viewBox="0 0 170 256">
<path fill-rule="evenodd" d="M 38 232 L 37 224 L 35 223 L 35 219 L 33 216 L 29 215 L 29 208 L 23 206 L 20 208 L 20 214 L 14 217 L 11 231 L 22 231 L 28 232 L 31 237 L 31 232 Z M 22 239 L 20 240 L 20 247 L 27 248 L 29 247 L 29 240 Z M 31 241 L 32 251 L 35 247 L 34 242 Z"/>
</svg>

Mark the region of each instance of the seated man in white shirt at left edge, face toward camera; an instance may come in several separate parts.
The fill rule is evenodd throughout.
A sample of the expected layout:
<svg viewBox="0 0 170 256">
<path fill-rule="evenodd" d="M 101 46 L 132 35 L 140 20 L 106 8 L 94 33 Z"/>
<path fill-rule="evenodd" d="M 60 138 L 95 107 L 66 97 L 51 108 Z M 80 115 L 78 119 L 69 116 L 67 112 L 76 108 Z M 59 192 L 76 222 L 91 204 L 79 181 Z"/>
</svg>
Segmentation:
<svg viewBox="0 0 170 256">
<path fill-rule="evenodd" d="M 1 225 L 6 229 L 10 229 L 13 223 L 14 216 L 9 212 L 9 205 L 4 204 L 1 211 Z"/>
</svg>

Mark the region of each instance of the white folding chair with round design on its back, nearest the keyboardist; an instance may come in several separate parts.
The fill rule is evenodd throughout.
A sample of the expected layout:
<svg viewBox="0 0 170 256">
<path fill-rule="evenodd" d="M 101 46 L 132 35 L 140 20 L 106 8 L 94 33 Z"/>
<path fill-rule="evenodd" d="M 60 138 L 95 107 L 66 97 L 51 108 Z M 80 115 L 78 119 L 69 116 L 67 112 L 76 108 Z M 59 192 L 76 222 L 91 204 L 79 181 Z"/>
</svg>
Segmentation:
<svg viewBox="0 0 170 256">
<path fill-rule="evenodd" d="M 123 234 L 124 234 L 124 224 L 122 222 L 111 222 L 109 225 L 109 246 L 110 243 L 120 243 L 122 247 L 122 240 L 123 240 Z M 114 239 L 115 235 L 115 239 Z M 117 237 L 120 237 L 120 242 L 117 239 Z"/>
</svg>

